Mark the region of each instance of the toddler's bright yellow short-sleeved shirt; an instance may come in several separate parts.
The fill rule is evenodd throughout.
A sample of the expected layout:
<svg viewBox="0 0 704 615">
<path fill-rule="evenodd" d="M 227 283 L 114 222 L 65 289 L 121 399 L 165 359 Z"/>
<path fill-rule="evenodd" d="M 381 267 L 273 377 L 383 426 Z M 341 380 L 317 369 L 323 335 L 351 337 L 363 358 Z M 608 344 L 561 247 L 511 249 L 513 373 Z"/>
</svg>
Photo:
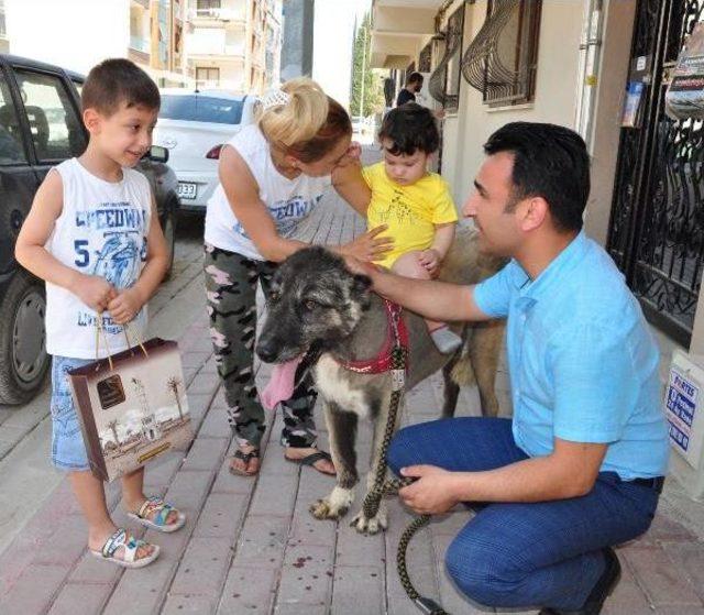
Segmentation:
<svg viewBox="0 0 704 615">
<path fill-rule="evenodd" d="M 389 179 L 383 162 L 364 167 L 362 174 L 372 189 L 366 227 L 388 224 L 381 237 L 394 238 L 394 250 L 376 261 L 380 265 L 391 267 L 402 254 L 430 248 L 436 224 L 458 221 L 448 183 L 437 173 L 428 173 L 410 186 Z"/>
</svg>

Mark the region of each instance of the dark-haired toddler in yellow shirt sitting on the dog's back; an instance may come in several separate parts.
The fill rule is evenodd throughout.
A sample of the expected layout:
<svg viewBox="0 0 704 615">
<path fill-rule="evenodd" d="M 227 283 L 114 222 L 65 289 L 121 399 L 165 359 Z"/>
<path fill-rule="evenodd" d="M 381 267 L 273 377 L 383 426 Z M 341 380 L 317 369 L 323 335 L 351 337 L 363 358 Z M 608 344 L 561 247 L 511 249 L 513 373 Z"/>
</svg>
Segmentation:
<svg viewBox="0 0 704 615">
<path fill-rule="evenodd" d="M 384 160 L 362 169 L 364 182 L 359 179 L 359 166 L 346 164 L 333 172 L 333 183 L 366 216 L 369 229 L 388 227 L 380 237 L 391 237 L 394 245 L 377 264 L 407 277 L 430 279 L 452 244 L 458 221 L 448 184 L 427 168 L 440 146 L 436 120 L 429 109 L 407 102 L 386 114 L 378 139 Z M 453 352 L 462 343 L 447 325 L 426 322 L 440 352 Z"/>
</svg>

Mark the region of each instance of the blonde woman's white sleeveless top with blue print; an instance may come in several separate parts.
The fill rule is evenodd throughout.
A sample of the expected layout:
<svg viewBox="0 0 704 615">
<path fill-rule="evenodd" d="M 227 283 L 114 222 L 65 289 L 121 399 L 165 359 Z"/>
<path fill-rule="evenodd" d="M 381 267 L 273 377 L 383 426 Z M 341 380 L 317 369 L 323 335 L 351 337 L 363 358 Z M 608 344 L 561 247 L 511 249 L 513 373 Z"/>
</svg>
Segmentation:
<svg viewBox="0 0 704 615">
<path fill-rule="evenodd" d="M 256 124 L 244 127 L 229 142 L 250 167 L 260 188 L 260 198 L 276 224 L 280 237 L 295 238 L 299 222 L 307 218 L 330 186 L 330 176 L 295 179 L 284 177 L 274 166 L 268 142 Z M 206 243 L 263 261 L 254 242 L 240 224 L 220 184 L 208 201 Z"/>
</svg>

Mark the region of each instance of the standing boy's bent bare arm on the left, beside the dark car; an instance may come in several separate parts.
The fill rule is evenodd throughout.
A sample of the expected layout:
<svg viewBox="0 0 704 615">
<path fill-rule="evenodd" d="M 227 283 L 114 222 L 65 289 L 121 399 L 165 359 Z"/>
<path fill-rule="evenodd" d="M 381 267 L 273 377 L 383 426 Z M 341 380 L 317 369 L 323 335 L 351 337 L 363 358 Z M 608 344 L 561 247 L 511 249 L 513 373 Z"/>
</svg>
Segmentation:
<svg viewBox="0 0 704 615">
<path fill-rule="evenodd" d="M 62 177 L 57 172 L 50 172 L 34 195 L 32 208 L 20 229 L 14 257 L 37 277 L 66 288 L 90 308 L 102 311 L 114 296 L 114 288 L 102 277 L 85 275 L 64 265 L 44 248 L 63 208 Z"/>
</svg>

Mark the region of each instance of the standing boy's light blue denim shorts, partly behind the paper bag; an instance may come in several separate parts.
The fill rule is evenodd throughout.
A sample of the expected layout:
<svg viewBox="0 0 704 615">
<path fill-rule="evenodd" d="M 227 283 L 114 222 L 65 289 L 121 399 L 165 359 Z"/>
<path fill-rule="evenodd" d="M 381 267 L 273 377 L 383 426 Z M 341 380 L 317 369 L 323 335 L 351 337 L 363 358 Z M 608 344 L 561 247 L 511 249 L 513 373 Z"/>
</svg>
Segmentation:
<svg viewBox="0 0 704 615">
<path fill-rule="evenodd" d="M 90 470 L 66 373 L 92 362 L 70 356 L 52 360 L 52 463 L 61 470 Z"/>
</svg>

